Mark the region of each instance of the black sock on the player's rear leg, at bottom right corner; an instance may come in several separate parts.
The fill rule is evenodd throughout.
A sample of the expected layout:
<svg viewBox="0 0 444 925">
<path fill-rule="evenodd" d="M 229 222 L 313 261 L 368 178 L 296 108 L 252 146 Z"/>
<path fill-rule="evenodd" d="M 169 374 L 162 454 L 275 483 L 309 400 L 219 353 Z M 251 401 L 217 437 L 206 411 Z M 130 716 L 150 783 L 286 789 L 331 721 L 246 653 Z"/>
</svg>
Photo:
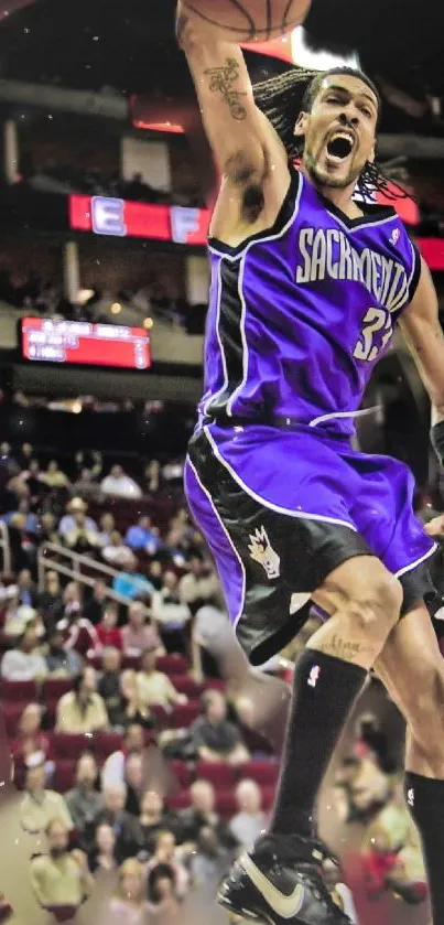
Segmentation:
<svg viewBox="0 0 444 925">
<path fill-rule="evenodd" d="M 444 922 L 444 781 L 405 773 L 405 799 L 416 822 L 427 871 L 434 925 Z"/>
</svg>

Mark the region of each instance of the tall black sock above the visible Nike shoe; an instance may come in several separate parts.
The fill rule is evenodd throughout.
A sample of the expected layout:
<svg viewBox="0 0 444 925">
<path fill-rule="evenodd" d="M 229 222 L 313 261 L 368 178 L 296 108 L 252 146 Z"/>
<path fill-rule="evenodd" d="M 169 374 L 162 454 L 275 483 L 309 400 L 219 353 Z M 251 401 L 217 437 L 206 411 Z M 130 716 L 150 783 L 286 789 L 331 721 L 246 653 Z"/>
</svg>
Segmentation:
<svg viewBox="0 0 444 925">
<path fill-rule="evenodd" d="M 270 832 L 313 833 L 322 779 L 366 677 L 364 668 L 311 648 L 296 662 Z"/>
</svg>

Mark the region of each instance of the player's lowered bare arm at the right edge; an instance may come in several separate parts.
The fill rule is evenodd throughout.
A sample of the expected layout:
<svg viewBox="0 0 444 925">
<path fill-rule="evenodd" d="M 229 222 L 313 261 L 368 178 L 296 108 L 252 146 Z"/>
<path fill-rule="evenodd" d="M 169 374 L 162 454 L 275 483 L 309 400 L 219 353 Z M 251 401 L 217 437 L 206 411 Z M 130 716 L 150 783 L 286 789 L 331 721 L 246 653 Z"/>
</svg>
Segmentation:
<svg viewBox="0 0 444 925">
<path fill-rule="evenodd" d="M 401 315 L 400 327 L 429 392 L 433 422 L 444 420 L 444 334 L 436 290 L 425 261 L 421 261 L 416 292 Z"/>
</svg>

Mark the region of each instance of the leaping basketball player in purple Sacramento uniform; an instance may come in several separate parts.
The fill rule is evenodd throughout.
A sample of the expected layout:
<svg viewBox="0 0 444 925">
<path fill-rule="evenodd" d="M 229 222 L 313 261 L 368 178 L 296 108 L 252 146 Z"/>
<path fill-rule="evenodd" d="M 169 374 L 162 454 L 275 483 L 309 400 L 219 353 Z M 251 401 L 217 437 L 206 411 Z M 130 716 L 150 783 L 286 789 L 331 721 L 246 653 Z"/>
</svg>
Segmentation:
<svg viewBox="0 0 444 925">
<path fill-rule="evenodd" d="M 297 633 L 308 600 L 328 615 L 295 667 L 269 831 L 218 897 L 273 925 L 348 922 L 322 880 L 314 809 L 375 668 L 408 723 L 408 804 L 443 925 L 444 662 L 423 604 L 434 542 L 413 515 L 408 469 L 350 444 L 399 324 L 444 458 L 444 337 L 429 270 L 391 208 L 354 197 L 378 176 L 378 92 L 338 68 L 313 79 L 300 111 L 294 71 L 257 88 L 260 109 L 238 46 L 185 8 L 177 35 L 223 175 L 189 506 L 253 665 Z"/>
</svg>

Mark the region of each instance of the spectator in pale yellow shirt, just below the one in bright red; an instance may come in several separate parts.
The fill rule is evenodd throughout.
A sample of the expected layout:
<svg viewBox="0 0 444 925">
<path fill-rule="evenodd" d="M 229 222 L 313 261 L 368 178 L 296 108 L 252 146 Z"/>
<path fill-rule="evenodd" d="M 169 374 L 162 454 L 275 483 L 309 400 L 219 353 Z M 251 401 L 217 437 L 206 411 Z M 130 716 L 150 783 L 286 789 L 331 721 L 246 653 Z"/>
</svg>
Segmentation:
<svg viewBox="0 0 444 925">
<path fill-rule="evenodd" d="M 74 690 L 64 693 L 57 703 L 57 732 L 98 732 L 108 728 L 105 703 L 97 693 L 96 671 L 84 668 L 74 681 Z"/>
</svg>

